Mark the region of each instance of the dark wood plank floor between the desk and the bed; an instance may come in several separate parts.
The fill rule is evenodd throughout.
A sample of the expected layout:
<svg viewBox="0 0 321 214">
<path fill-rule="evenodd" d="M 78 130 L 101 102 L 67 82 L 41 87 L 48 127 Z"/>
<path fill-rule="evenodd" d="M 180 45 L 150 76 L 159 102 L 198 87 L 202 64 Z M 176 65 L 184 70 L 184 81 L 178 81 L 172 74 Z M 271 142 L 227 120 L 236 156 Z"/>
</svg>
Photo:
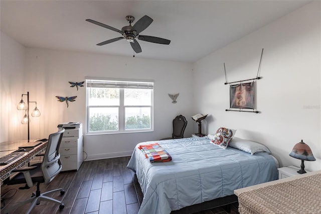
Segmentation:
<svg viewBox="0 0 321 214">
<path fill-rule="evenodd" d="M 85 161 L 78 171 L 61 172 L 48 185 L 41 184 L 41 192 L 64 188 L 60 192 L 48 195 L 63 200 L 65 208 L 42 201 L 32 214 L 47 213 L 91 213 L 91 214 L 136 214 L 142 201 L 142 193 L 134 173 L 126 168 L 130 157 Z M 18 201 L 31 197 L 35 187 L 18 189 L 22 185 L 1 186 L 3 206 L 12 206 Z M 20 206 L 13 213 L 24 213 L 30 204 Z M 227 213 L 222 207 L 197 212 L 198 214 Z M 231 213 L 238 213 L 238 204 L 231 206 Z M 152 214 L 152 213 L 150 213 Z"/>
</svg>

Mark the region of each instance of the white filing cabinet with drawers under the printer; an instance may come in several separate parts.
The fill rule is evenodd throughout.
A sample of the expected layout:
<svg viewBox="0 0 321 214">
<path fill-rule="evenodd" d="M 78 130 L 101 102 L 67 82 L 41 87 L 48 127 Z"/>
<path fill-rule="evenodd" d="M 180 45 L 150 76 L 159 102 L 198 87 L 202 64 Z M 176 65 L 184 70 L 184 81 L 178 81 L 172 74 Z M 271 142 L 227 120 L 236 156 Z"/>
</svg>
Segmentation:
<svg viewBox="0 0 321 214">
<path fill-rule="evenodd" d="M 79 129 L 66 129 L 61 140 L 60 161 L 62 170 L 78 170 L 83 162 L 82 124 Z"/>
</svg>

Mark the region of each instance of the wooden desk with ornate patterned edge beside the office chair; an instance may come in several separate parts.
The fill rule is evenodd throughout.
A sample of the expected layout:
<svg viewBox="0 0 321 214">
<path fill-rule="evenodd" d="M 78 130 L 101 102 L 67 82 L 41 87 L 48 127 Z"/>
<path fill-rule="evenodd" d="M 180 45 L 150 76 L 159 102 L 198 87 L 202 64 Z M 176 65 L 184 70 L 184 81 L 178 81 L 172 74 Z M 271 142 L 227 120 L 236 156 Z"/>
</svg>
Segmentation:
<svg viewBox="0 0 321 214">
<path fill-rule="evenodd" d="M 36 140 L 30 140 L 33 142 Z M 20 145 L 28 143 L 27 140 L 25 141 L 14 141 L 14 142 L 3 142 L 0 143 L 0 157 L 3 157 L 11 152 L 14 152 L 19 148 Z M 36 157 L 37 154 L 44 152 L 47 148 L 48 141 L 42 142 L 42 144 L 35 146 L 33 148 L 26 148 L 26 154 L 17 158 L 13 162 L 0 166 L 0 182 L 2 183 L 4 180 L 10 177 L 12 174 L 12 170 L 23 167 L 25 164 L 29 163 L 32 159 Z"/>
</svg>

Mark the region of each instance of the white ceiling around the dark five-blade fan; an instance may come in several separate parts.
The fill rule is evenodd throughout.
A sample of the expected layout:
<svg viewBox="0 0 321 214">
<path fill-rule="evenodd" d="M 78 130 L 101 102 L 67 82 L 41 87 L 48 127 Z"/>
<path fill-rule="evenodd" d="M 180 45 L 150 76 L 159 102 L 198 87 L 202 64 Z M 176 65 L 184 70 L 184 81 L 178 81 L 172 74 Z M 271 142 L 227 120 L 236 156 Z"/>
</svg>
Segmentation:
<svg viewBox="0 0 321 214">
<path fill-rule="evenodd" d="M 273 22 L 309 1 L 3 1 L 1 31 L 26 47 L 132 56 L 128 42 L 97 43 L 121 36 L 86 19 L 116 29 L 149 16 L 141 35 L 171 40 L 170 45 L 138 40 L 135 57 L 195 62 Z M 134 22 L 135 23 L 135 22 Z"/>
</svg>

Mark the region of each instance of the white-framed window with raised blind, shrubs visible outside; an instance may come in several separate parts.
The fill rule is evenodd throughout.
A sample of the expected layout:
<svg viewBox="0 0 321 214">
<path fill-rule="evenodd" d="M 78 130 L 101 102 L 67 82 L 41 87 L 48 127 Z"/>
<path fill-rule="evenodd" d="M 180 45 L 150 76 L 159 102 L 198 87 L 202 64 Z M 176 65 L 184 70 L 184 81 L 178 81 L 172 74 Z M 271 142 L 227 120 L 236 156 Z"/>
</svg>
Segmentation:
<svg viewBox="0 0 321 214">
<path fill-rule="evenodd" d="M 152 131 L 153 82 L 86 79 L 87 134 Z"/>
</svg>

